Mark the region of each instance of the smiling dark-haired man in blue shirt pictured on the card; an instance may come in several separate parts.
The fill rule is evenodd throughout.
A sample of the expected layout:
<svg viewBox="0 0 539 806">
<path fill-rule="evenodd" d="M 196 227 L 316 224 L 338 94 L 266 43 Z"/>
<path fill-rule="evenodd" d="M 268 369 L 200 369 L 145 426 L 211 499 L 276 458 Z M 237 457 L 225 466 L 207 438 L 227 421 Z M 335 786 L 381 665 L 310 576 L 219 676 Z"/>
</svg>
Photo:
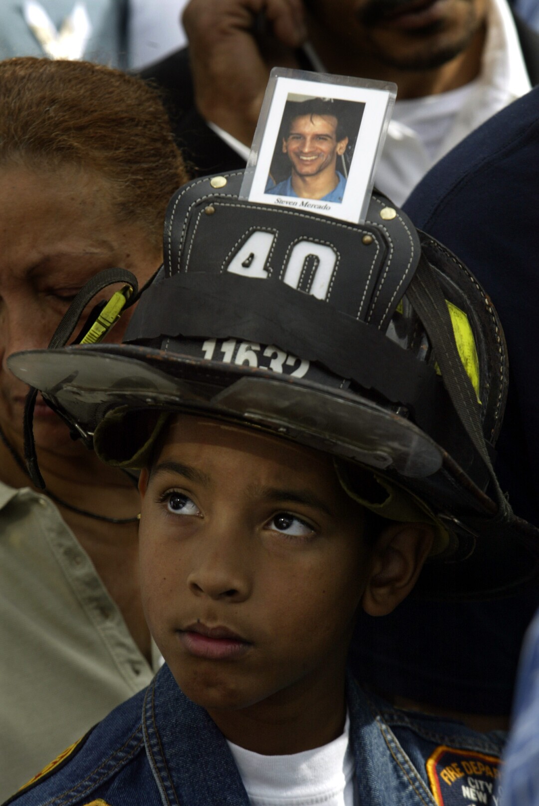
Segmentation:
<svg viewBox="0 0 539 806">
<path fill-rule="evenodd" d="M 342 202 L 346 178 L 337 170 L 337 157 L 346 152 L 348 136 L 338 118 L 338 106 L 330 100 L 288 102 L 284 119 L 283 153 L 292 172 L 267 193 Z"/>
</svg>

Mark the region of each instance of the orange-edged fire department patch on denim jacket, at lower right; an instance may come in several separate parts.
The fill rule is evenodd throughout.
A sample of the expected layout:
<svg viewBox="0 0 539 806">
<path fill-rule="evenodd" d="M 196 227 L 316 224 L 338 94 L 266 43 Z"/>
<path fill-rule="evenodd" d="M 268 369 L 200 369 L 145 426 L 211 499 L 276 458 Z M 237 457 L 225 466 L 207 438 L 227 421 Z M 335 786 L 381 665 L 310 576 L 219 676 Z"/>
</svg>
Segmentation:
<svg viewBox="0 0 539 806">
<path fill-rule="evenodd" d="M 437 747 L 427 761 L 427 775 L 437 806 L 498 806 L 500 758 Z"/>
</svg>

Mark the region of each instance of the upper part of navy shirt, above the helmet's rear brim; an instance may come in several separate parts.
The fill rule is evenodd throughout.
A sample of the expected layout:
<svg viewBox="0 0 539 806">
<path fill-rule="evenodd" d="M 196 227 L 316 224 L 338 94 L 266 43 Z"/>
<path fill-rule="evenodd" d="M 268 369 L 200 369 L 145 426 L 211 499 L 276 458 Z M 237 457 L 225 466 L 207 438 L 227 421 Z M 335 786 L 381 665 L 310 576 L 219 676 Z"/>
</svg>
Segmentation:
<svg viewBox="0 0 539 806">
<path fill-rule="evenodd" d="M 539 88 L 454 148 L 404 210 L 471 269 L 500 315 L 510 376 L 495 469 L 515 513 L 539 526 Z"/>
</svg>

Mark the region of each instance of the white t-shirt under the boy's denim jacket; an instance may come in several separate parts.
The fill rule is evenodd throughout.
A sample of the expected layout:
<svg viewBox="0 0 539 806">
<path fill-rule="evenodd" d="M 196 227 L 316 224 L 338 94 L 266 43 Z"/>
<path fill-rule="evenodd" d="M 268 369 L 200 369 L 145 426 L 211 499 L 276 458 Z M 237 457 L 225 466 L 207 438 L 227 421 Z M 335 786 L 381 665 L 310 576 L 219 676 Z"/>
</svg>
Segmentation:
<svg viewBox="0 0 539 806">
<path fill-rule="evenodd" d="M 344 733 L 329 745 L 267 756 L 228 742 L 251 806 L 354 806 L 354 757 Z"/>
</svg>

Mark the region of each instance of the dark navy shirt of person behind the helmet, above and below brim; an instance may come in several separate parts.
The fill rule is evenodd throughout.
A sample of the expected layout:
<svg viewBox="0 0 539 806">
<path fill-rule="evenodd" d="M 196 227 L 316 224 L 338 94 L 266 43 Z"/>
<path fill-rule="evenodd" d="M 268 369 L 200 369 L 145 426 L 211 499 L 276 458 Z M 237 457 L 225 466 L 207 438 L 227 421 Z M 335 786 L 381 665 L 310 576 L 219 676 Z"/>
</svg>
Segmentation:
<svg viewBox="0 0 539 806">
<path fill-rule="evenodd" d="M 404 210 L 471 269 L 500 315 L 510 372 L 495 470 L 515 513 L 539 526 L 539 89 L 437 163 Z M 478 604 L 406 600 L 384 619 L 363 617 L 358 661 L 385 692 L 507 714 L 538 588 Z"/>
</svg>

